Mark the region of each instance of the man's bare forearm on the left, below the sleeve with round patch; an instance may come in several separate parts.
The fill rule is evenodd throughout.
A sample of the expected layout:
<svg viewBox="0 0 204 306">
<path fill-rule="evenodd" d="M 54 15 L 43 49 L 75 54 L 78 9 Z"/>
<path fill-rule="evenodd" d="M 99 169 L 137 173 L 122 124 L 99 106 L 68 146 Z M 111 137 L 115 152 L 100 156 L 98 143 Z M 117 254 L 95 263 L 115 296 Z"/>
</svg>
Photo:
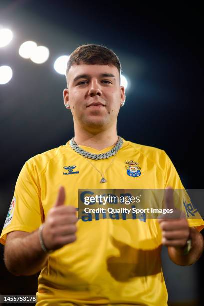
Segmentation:
<svg viewBox="0 0 204 306">
<path fill-rule="evenodd" d="M 18 237 L 5 245 L 4 260 L 7 269 L 14 275 L 33 275 L 41 270 L 47 254 L 41 248 L 38 230 Z"/>
</svg>

